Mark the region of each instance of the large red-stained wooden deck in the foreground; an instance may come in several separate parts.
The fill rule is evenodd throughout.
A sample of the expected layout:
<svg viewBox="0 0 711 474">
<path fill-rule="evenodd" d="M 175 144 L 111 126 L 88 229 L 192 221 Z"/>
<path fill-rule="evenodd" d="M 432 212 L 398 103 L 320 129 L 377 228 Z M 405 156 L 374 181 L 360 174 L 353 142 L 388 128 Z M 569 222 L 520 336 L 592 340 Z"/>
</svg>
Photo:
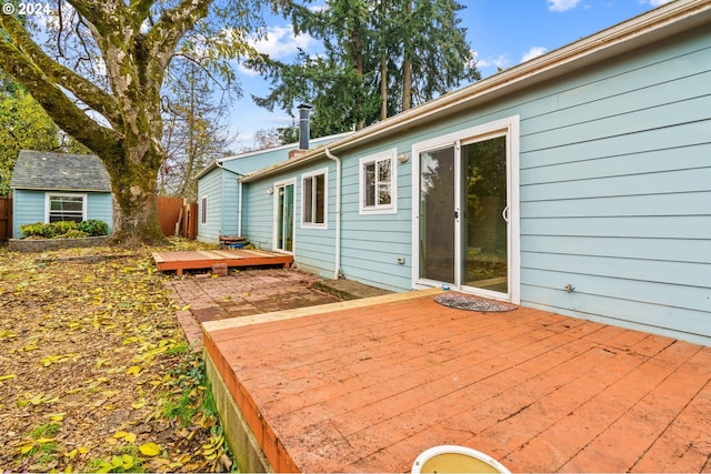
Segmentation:
<svg viewBox="0 0 711 474">
<path fill-rule="evenodd" d="M 339 304 L 203 326 L 277 472 L 409 472 L 439 444 L 512 472 L 711 471 L 711 347 L 432 291 Z"/>
</svg>

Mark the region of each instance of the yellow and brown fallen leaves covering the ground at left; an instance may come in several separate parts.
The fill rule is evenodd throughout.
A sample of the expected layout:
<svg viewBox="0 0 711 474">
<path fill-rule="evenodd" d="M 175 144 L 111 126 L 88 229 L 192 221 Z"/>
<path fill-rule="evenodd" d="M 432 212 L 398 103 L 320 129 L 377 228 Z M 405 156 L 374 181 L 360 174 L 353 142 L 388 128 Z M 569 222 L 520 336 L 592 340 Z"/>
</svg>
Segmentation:
<svg viewBox="0 0 711 474">
<path fill-rule="evenodd" d="M 238 467 L 156 250 L 0 248 L 1 472 Z"/>
</svg>

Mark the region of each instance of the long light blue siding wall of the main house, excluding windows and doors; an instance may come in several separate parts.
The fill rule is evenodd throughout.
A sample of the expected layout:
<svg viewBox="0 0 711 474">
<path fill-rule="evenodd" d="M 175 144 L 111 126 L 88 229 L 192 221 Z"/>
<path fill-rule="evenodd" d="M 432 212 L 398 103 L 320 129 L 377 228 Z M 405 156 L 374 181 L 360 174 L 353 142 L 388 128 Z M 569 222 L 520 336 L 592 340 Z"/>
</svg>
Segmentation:
<svg viewBox="0 0 711 474">
<path fill-rule="evenodd" d="M 382 215 L 358 212 L 361 158 L 411 152 L 414 143 L 518 115 L 521 304 L 711 343 L 709 83 L 711 30 L 699 28 L 337 153 L 343 163 L 342 274 L 392 290 L 413 284 L 418 157 L 397 164 L 398 210 Z M 269 239 L 267 189 L 282 178 L 248 183 L 256 214 L 250 235 Z M 329 229 L 334 180 L 329 171 Z M 327 273 L 326 263 L 314 262 L 317 253 L 322 262 L 333 259 L 333 233 L 297 231 L 297 263 Z"/>
</svg>

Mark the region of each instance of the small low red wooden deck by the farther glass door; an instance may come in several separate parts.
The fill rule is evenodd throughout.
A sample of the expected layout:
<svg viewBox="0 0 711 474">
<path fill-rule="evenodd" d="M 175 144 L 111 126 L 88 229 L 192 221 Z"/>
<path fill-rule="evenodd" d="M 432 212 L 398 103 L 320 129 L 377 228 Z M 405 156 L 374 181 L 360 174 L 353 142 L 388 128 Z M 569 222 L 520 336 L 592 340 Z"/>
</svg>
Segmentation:
<svg viewBox="0 0 711 474">
<path fill-rule="evenodd" d="M 199 250 L 178 252 L 153 252 L 156 266 L 161 272 L 176 270 L 212 269 L 214 265 L 232 266 L 290 265 L 293 256 L 262 250 Z"/>
</svg>

